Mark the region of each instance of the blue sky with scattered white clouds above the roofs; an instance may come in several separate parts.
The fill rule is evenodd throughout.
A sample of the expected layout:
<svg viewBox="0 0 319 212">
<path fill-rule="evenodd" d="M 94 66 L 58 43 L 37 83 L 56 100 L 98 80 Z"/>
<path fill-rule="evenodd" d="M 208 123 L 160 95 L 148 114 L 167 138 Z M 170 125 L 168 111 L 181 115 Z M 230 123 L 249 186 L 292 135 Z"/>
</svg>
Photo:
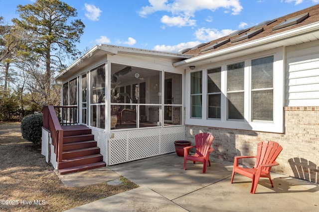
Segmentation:
<svg viewBox="0 0 319 212">
<path fill-rule="evenodd" d="M 18 17 L 18 4 L 0 0 L 0 16 Z M 318 4 L 319 0 L 64 0 L 85 24 L 80 51 L 110 44 L 177 52 L 237 29 Z"/>
</svg>

